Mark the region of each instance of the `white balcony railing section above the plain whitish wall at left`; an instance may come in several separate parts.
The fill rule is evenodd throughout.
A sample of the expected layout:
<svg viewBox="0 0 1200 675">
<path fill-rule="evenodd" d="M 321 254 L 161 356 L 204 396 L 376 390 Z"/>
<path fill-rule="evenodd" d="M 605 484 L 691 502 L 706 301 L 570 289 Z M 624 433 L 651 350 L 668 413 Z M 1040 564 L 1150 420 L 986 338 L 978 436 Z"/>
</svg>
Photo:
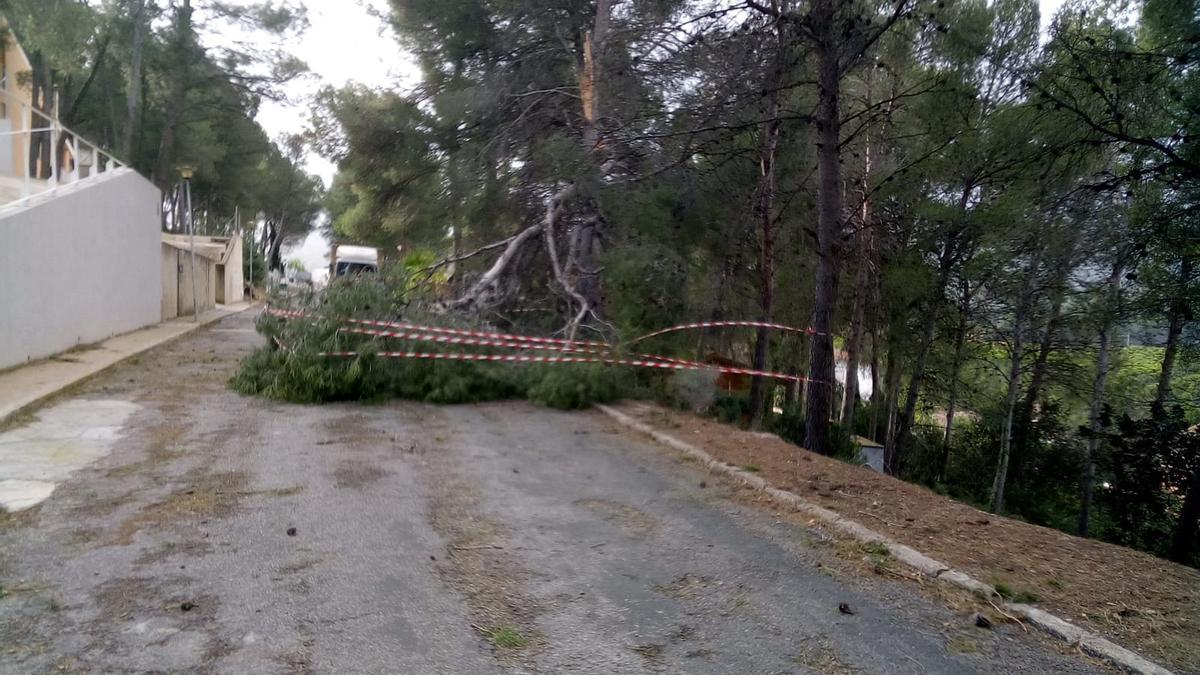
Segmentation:
<svg viewBox="0 0 1200 675">
<path fill-rule="evenodd" d="M 56 117 L 0 88 L 0 205 L 122 167 Z"/>
</svg>

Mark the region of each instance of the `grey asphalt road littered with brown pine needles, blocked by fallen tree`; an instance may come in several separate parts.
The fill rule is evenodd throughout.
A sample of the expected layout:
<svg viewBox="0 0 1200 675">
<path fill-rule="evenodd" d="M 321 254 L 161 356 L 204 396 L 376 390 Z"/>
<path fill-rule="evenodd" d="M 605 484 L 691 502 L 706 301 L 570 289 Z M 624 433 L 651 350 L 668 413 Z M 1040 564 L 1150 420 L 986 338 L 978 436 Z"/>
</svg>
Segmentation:
<svg viewBox="0 0 1200 675">
<path fill-rule="evenodd" d="M 252 318 L 58 404 L 137 410 L 0 519 L 0 673 L 1097 669 L 862 574 L 596 413 L 240 396 Z"/>
</svg>

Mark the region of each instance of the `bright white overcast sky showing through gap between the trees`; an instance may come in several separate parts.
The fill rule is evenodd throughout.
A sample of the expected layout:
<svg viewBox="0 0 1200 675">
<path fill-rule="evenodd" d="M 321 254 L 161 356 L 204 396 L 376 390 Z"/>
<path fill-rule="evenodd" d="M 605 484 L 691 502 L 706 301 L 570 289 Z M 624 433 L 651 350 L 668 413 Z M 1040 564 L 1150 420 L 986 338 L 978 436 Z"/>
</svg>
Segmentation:
<svg viewBox="0 0 1200 675">
<path fill-rule="evenodd" d="M 1043 30 L 1063 1 L 1039 0 Z M 391 29 L 372 13 L 372 10 L 385 12 L 386 0 L 304 0 L 304 4 L 308 7 L 311 25 L 289 49 L 308 64 L 312 74 L 289 84 L 288 102 L 263 104 L 258 121 L 272 138 L 305 129 L 310 98 L 324 85 L 358 82 L 407 89 L 418 78 L 415 66 L 397 44 Z M 323 157 L 310 155 L 307 168 L 326 185 L 332 180 L 334 166 Z M 284 253 L 287 258 L 299 258 L 310 270 L 324 268 L 328 256 L 329 243 L 317 233 Z"/>
</svg>

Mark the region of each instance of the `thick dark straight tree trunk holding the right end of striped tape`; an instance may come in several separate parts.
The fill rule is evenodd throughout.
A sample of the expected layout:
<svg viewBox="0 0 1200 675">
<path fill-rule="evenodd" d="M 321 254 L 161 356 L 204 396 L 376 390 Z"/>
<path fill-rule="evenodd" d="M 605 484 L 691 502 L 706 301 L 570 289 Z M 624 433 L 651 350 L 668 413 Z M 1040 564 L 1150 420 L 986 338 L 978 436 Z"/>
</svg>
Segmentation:
<svg viewBox="0 0 1200 675">
<path fill-rule="evenodd" d="M 817 52 L 817 269 L 812 299 L 812 353 L 805 405 L 804 444 L 829 454 L 829 412 L 833 401 L 833 311 L 838 275 L 835 240 L 841 226 L 841 89 L 840 42 L 833 0 L 816 0 L 811 30 Z"/>
</svg>

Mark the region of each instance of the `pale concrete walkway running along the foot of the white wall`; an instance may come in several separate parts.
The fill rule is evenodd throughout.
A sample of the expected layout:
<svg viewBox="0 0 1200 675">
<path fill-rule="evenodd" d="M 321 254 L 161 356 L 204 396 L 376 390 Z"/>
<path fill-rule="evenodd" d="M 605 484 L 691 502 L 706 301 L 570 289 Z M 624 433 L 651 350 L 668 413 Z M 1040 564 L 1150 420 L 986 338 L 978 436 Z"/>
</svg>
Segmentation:
<svg viewBox="0 0 1200 675">
<path fill-rule="evenodd" d="M 250 307 L 250 303 L 222 305 L 202 313 L 198 322 L 191 317 L 164 321 L 157 325 L 110 338 L 88 350 L 66 352 L 0 372 L 0 424 L 17 412 L 113 364 Z"/>
</svg>

